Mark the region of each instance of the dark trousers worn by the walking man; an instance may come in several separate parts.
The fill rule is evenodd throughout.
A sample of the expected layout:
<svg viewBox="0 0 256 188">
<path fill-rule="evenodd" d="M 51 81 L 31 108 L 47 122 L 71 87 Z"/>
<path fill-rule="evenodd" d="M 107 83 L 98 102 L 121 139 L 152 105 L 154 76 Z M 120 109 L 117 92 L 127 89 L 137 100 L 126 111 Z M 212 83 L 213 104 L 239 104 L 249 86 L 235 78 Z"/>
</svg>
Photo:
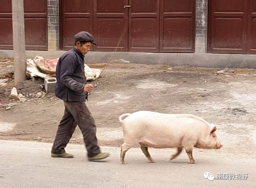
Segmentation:
<svg viewBox="0 0 256 188">
<path fill-rule="evenodd" d="M 97 144 L 95 121 L 85 102 L 64 101 L 64 105 L 65 112 L 60 121 L 51 152 L 54 154 L 65 152 L 64 148 L 78 125 L 84 137 L 88 157 L 99 154 L 101 151 Z"/>
</svg>

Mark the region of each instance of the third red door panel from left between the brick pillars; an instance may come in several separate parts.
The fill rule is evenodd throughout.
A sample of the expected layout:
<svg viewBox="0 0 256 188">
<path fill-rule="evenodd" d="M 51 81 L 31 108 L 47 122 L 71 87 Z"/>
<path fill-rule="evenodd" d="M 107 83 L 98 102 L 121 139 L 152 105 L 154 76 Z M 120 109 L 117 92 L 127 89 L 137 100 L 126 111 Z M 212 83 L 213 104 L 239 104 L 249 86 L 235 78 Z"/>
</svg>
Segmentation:
<svg viewBox="0 0 256 188">
<path fill-rule="evenodd" d="M 129 51 L 159 51 L 159 0 L 130 0 Z"/>
</svg>

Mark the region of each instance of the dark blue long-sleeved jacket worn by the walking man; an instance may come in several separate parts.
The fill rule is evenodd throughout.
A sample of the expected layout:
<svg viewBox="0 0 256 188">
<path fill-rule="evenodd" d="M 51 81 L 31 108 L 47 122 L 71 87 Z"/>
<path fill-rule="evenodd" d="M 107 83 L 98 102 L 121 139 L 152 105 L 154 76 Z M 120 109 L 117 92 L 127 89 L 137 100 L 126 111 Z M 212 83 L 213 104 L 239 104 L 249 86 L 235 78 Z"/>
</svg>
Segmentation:
<svg viewBox="0 0 256 188">
<path fill-rule="evenodd" d="M 84 55 L 75 47 L 60 56 L 56 67 L 55 94 L 64 101 L 85 101 Z"/>
</svg>

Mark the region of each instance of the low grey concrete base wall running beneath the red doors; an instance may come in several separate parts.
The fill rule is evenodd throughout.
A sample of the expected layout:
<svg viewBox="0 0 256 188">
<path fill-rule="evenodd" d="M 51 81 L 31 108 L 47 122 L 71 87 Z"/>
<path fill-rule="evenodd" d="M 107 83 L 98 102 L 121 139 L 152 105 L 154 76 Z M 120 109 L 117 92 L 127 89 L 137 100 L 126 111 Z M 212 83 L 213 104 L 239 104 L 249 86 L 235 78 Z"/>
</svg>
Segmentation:
<svg viewBox="0 0 256 188">
<path fill-rule="evenodd" d="M 27 58 L 36 55 L 44 58 L 58 58 L 66 51 L 26 51 Z M 108 62 L 113 52 L 89 52 L 85 56 L 86 63 Z M 13 57 L 12 50 L 1 50 L 1 57 Z M 146 52 L 114 52 L 113 60 L 124 59 L 131 63 L 188 65 L 199 67 L 229 67 L 256 69 L 255 55 L 240 54 L 185 54 L 185 53 L 146 53 Z"/>
</svg>

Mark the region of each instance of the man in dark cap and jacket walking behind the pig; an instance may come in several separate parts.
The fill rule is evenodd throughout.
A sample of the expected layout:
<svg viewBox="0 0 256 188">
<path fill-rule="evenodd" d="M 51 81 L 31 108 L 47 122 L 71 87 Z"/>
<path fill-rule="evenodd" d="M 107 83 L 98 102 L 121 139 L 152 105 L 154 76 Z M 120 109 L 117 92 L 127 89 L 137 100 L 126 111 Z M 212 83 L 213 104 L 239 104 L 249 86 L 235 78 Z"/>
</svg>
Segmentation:
<svg viewBox="0 0 256 188">
<path fill-rule="evenodd" d="M 60 56 L 57 63 L 55 94 L 64 101 L 65 111 L 56 133 L 51 157 L 73 158 L 72 154 L 66 153 L 65 147 L 77 125 L 83 134 L 89 161 L 109 156 L 108 153 L 102 153 L 97 145 L 95 121 L 85 104 L 93 85 L 86 83 L 84 55 L 90 51 L 92 44 L 96 45 L 90 33 L 77 33 L 75 46 Z"/>
</svg>

